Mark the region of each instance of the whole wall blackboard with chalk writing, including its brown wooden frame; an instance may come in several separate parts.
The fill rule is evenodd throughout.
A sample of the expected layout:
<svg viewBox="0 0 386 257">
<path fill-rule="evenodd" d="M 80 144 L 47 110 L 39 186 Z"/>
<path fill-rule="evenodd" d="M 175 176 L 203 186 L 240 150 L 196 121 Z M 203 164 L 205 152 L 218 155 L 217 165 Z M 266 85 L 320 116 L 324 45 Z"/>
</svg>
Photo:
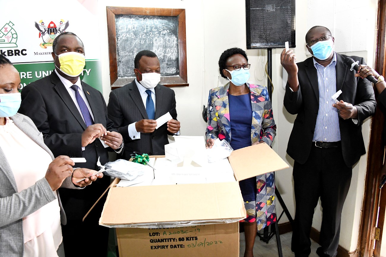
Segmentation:
<svg viewBox="0 0 386 257">
<path fill-rule="evenodd" d="M 154 52 L 161 65 L 161 84 L 188 86 L 185 9 L 107 7 L 112 88 L 135 78 L 134 57 Z"/>
</svg>

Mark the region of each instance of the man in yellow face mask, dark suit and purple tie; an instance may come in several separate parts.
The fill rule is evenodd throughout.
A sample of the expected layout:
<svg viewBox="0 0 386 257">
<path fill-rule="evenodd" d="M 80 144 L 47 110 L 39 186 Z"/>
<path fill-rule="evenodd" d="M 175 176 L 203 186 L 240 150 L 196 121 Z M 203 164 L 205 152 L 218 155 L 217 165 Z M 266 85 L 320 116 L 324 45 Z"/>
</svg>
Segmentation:
<svg viewBox="0 0 386 257">
<path fill-rule="evenodd" d="M 55 69 L 22 90 L 19 113 L 29 116 L 43 134 L 44 143 L 55 157 L 84 157 L 75 167 L 98 170 L 97 159 L 105 164 L 108 149 L 120 153 L 122 136 L 107 116 L 102 94 L 79 78 L 85 67 L 83 42 L 71 32 L 58 35 L 52 44 Z M 105 143 L 108 148 L 102 144 Z M 83 190 L 60 188 L 60 198 L 67 223 L 62 223 L 66 256 L 79 256 L 85 250 L 85 239 L 98 239 L 86 247 L 90 256 L 106 256 L 108 228 L 98 225 L 103 199 L 82 222 L 83 216 L 110 183 L 104 176 Z"/>
</svg>

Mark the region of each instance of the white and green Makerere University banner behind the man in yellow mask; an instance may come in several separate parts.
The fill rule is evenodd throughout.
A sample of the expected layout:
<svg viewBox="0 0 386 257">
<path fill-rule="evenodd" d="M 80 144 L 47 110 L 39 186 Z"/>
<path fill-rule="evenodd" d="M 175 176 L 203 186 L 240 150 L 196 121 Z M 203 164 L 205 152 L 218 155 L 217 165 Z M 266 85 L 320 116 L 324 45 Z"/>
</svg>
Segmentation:
<svg viewBox="0 0 386 257">
<path fill-rule="evenodd" d="M 81 80 L 102 92 L 97 0 L 1 1 L 1 9 L 0 54 L 19 71 L 22 87 L 51 74 L 52 42 L 69 31 L 85 45 Z"/>
</svg>

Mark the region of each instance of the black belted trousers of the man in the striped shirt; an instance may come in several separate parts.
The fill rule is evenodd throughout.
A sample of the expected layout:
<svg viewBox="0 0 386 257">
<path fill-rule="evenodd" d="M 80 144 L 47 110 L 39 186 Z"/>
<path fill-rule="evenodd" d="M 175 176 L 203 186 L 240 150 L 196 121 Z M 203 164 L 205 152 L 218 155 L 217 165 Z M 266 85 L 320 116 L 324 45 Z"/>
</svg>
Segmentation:
<svg viewBox="0 0 386 257">
<path fill-rule="evenodd" d="M 343 203 L 349 191 L 352 167 L 347 167 L 339 144 L 336 148 L 312 146 L 305 164 L 295 161 L 293 180 L 295 190 L 295 227 L 292 251 L 296 257 L 311 253 L 310 231 L 318 199 L 322 202 L 322 227 L 317 254 L 335 257 L 339 245 L 340 220 Z"/>
</svg>

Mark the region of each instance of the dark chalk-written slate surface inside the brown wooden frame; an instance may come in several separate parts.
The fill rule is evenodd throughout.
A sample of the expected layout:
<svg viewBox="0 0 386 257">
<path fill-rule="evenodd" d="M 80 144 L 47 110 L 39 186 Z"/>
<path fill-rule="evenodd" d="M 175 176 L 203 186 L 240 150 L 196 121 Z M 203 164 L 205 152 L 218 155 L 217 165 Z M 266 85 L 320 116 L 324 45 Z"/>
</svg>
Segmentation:
<svg viewBox="0 0 386 257">
<path fill-rule="evenodd" d="M 115 15 L 118 77 L 135 77 L 134 57 L 142 50 L 154 52 L 161 76 L 179 76 L 178 17 Z"/>
</svg>

